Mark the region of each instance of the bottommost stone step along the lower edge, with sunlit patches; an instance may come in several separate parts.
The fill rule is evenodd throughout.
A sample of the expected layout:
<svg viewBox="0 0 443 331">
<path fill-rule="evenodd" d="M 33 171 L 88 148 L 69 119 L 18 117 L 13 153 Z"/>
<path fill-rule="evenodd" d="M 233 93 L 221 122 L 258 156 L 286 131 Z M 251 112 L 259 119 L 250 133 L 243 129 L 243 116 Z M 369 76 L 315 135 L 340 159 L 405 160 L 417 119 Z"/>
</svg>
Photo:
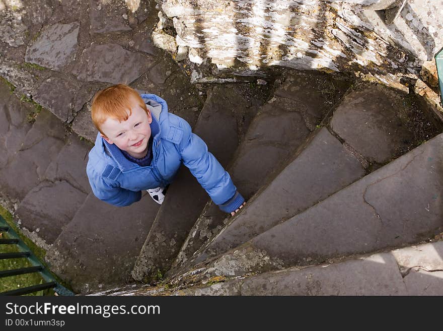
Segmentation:
<svg viewBox="0 0 443 331">
<path fill-rule="evenodd" d="M 436 241 L 301 270 L 218 277 L 217 284 L 172 295 L 443 295 L 442 256 L 443 241 Z"/>
</svg>

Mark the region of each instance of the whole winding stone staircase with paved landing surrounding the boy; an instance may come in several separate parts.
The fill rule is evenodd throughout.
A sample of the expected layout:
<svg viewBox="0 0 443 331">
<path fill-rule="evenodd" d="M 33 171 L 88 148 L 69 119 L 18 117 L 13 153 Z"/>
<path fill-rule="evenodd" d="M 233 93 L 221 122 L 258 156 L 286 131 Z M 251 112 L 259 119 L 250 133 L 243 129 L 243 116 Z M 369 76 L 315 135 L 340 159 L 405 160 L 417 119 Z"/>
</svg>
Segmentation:
<svg viewBox="0 0 443 331">
<path fill-rule="evenodd" d="M 155 4 L 81 4 L 80 25 L 69 2 L 31 4 L 29 35 L 0 44 L 2 205 L 73 291 L 443 294 L 443 122 L 419 81 L 280 68 L 191 84 L 186 65 L 141 43 Z M 122 77 L 189 121 L 246 198 L 239 213 L 221 212 L 185 167 L 162 206 L 94 196 L 89 103 Z"/>
</svg>

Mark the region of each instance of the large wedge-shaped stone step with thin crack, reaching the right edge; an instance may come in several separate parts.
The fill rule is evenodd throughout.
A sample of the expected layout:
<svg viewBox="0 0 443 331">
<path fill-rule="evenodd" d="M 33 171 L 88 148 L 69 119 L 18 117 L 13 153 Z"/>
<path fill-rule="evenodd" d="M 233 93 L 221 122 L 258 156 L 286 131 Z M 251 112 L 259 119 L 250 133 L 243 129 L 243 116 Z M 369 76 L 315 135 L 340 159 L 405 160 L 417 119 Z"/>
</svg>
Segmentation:
<svg viewBox="0 0 443 331">
<path fill-rule="evenodd" d="M 442 151 L 443 134 L 218 256 L 200 273 L 307 266 L 432 238 L 443 227 Z"/>
</svg>

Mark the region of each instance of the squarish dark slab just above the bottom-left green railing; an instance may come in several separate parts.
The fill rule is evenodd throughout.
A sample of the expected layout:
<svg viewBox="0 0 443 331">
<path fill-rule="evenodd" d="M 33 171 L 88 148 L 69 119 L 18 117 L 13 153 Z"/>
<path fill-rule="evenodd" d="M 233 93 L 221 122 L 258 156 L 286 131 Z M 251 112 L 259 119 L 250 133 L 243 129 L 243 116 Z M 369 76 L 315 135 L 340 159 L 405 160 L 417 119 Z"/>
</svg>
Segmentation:
<svg viewBox="0 0 443 331">
<path fill-rule="evenodd" d="M 66 181 L 43 181 L 26 194 L 15 215 L 22 227 L 52 244 L 87 196 Z"/>
</svg>

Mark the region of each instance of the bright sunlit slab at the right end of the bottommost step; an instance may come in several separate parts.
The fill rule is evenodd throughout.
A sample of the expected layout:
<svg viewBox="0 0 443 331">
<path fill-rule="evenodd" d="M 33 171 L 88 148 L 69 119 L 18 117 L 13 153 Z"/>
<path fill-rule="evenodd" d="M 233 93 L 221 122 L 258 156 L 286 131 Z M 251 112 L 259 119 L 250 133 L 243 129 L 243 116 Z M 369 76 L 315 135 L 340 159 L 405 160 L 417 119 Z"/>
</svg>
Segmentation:
<svg viewBox="0 0 443 331">
<path fill-rule="evenodd" d="M 396 249 L 395 256 L 402 274 L 411 269 L 443 270 L 443 241 Z"/>
</svg>

